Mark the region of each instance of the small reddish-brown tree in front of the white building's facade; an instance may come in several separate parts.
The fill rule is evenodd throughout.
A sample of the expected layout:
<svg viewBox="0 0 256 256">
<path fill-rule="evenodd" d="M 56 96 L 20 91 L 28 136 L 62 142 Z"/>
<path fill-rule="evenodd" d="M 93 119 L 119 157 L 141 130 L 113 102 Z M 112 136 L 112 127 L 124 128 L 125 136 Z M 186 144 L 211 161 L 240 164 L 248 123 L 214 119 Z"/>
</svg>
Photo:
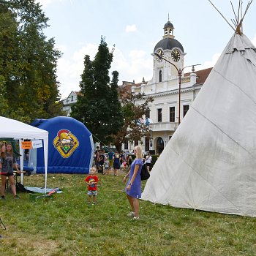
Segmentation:
<svg viewBox="0 0 256 256">
<path fill-rule="evenodd" d="M 153 102 L 153 97 L 146 97 L 145 94 L 132 94 L 127 92 L 121 96 L 121 110 L 124 116 L 124 125 L 118 129 L 116 135 L 112 135 L 113 144 L 118 151 L 121 151 L 122 143 L 141 140 L 142 137 L 149 135 L 149 127 L 146 124 L 138 124 L 138 120 L 149 110 L 148 103 Z M 135 101 L 140 101 L 135 105 Z"/>
</svg>

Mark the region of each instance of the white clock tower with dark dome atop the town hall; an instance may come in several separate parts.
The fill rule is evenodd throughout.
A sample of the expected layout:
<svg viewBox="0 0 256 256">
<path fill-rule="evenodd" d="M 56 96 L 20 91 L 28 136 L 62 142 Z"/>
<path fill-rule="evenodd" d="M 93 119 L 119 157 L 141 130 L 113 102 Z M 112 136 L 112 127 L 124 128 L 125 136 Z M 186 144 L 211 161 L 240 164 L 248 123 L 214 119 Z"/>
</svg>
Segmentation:
<svg viewBox="0 0 256 256">
<path fill-rule="evenodd" d="M 173 24 L 168 20 L 164 26 L 164 35 L 154 48 L 154 53 L 173 63 L 178 69 L 184 67 L 184 48 L 174 37 Z M 176 79 L 178 72 L 172 64 L 154 55 L 154 72 L 151 83 L 167 83 L 169 80 Z"/>
</svg>

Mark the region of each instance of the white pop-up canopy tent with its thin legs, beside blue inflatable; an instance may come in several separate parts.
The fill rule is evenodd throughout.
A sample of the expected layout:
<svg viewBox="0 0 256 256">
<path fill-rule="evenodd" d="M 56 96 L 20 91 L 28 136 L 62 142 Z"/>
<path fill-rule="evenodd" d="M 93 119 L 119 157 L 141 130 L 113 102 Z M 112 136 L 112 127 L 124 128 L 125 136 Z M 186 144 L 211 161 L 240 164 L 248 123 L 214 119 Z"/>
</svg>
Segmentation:
<svg viewBox="0 0 256 256">
<path fill-rule="evenodd" d="M 14 138 L 20 142 L 20 169 L 23 170 L 23 149 L 22 140 L 43 140 L 44 158 L 45 158 L 45 191 L 47 188 L 47 170 L 48 170 L 48 131 L 32 127 L 20 121 L 0 116 L 0 137 Z M 22 173 L 21 173 L 22 175 Z M 21 176 L 22 177 L 22 176 Z"/>
</svg>

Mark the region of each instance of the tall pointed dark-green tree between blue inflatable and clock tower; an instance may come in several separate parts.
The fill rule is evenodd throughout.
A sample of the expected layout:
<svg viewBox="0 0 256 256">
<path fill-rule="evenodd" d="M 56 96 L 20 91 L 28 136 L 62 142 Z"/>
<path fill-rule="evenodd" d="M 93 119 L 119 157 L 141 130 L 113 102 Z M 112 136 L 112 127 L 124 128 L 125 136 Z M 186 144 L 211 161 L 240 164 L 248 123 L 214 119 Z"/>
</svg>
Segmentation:
<svg viewBox="0 0 256 256">
<path fill-rule="evenodd" d="M 101 143 L 108 144 L 110 135 L 123 124 L 121 105 L 118 101 L 118 72 L 113 72 L 110 82 L 109 69 L 113 61 L 105 38 L 101 37 L 94 61 L 84 58 L 78 102 L 72 106 L 71 116 L 83 124 Z"/>
</svg>

